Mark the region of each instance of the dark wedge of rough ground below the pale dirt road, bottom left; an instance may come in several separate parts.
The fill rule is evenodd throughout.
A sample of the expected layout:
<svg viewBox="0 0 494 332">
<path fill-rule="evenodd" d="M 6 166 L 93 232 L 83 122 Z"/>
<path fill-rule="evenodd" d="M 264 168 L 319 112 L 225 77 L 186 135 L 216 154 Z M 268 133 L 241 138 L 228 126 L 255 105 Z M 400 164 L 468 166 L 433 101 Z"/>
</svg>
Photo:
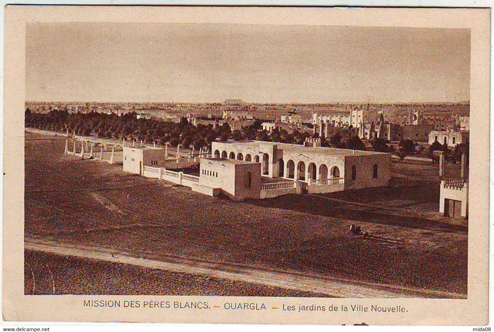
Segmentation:
<svg viewBox="0 0 494 332">
<path fill-rule="evenodd" d="M 30 295 L 328 296 L 31 250 L 26 251 L 24 267 Z"/>
</svg>

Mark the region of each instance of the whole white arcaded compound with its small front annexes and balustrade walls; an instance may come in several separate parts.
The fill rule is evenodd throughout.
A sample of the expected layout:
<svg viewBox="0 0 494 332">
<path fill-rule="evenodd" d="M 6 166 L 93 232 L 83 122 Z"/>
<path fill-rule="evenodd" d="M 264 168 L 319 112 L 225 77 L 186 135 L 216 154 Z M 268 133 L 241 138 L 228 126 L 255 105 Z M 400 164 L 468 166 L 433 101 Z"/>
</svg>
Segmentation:
<svg viewBox="0 0 494 332">
<path fill-rule="evenodd" d="M 264 141 L 213 142 L 212 156 L 167 158 L 166 150 L 124 147 L 124 171 L 236 201 L 386 186 L 391 155 Z M 174 171 L 199 164 L 199 176 Z"/>
</svg>

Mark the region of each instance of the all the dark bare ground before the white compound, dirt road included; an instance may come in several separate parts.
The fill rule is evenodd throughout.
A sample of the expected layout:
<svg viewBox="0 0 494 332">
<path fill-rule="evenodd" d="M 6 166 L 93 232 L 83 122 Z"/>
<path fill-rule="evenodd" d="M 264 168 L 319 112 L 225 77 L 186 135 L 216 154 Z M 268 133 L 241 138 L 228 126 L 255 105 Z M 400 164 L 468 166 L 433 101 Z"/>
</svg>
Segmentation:
<svg viewBox="0 0 494 332">
<path fill-rule="evenodd" d="M 238 203 L 124 173 L 122 165 L 65 156 L 64 146 L 65 138 L 26 132 L 26 294 L 46 273 L 43 266 L 52 266 L 58 279 L 77 281 L 56 293 L 349 296 L 355 289 L 354 296 L 466 297 L 468 225 L 437 213 L 437 186 Z M 411 165 L 393 170 L 434 174 L 436 167 Z M 354 237 L 351 224 L 371 237 Z M 67 251 L 46 249 L 57 243 Z M 127 264 L 132 257 L 206 268 L 180 274 Z M 214 273 L 215 266 L 233 272 Z M 255 271 L 258 279 L 247 283 Z M 270 276 L 278 275 L 307 282 L 277 284 Z M 150 285 L 181 282 L 153 290 L 135 286 L 137 277 Z M 41 289 L 52 293 L 49 285 L 36 293 Z"/>
</svg>

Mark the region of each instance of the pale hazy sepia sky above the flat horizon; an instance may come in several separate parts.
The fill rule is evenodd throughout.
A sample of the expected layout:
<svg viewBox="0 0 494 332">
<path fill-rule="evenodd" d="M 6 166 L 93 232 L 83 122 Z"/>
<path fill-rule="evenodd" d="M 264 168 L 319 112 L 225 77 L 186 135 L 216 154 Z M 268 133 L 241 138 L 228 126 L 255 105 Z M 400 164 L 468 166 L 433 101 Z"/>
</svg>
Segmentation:
<svg viewBox="0 0 494 332">
<path fill-rule="evenodd" d="M 470 30 L 34 23 L 26 100 L 392 102 L 470 94 Z"/>
</svg>

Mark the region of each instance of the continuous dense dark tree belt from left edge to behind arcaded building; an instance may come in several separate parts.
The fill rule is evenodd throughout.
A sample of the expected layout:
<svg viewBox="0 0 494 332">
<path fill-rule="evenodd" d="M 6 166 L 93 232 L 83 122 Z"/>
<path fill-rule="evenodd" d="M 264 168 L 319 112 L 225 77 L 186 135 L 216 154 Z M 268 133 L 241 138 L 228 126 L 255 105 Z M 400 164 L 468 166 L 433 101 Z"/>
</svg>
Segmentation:
<svg viewBox="0 0 494 332">
<path fill-rule="evenodd" d="M 171 146 L 180 145 L 182 148 L 194 149 L 210 147 L 214 140 L 226 141 L 262 140 L 283 143 L 303 144 L 309 135 L 294 130 L 274 130 L 272 133 L 261 129 L 261 122 L 255 121 L 242 130 L 231 130 L 227 123 L 198 124 L 194 126 L 181 118 L 179 123 L 165 122 L 157 119 L 137 119 L 135 112 L 124 115 L 104 114 L 97 112 L 68 113 L 67 111 L 52 110 L 48 113 L 25 112 L 25 126 L 51 131 L 66 132 L 82 136 L 113 138 L 126 140 L 142 140 L 145 143 L 157 143 Z"/>
</svg>

